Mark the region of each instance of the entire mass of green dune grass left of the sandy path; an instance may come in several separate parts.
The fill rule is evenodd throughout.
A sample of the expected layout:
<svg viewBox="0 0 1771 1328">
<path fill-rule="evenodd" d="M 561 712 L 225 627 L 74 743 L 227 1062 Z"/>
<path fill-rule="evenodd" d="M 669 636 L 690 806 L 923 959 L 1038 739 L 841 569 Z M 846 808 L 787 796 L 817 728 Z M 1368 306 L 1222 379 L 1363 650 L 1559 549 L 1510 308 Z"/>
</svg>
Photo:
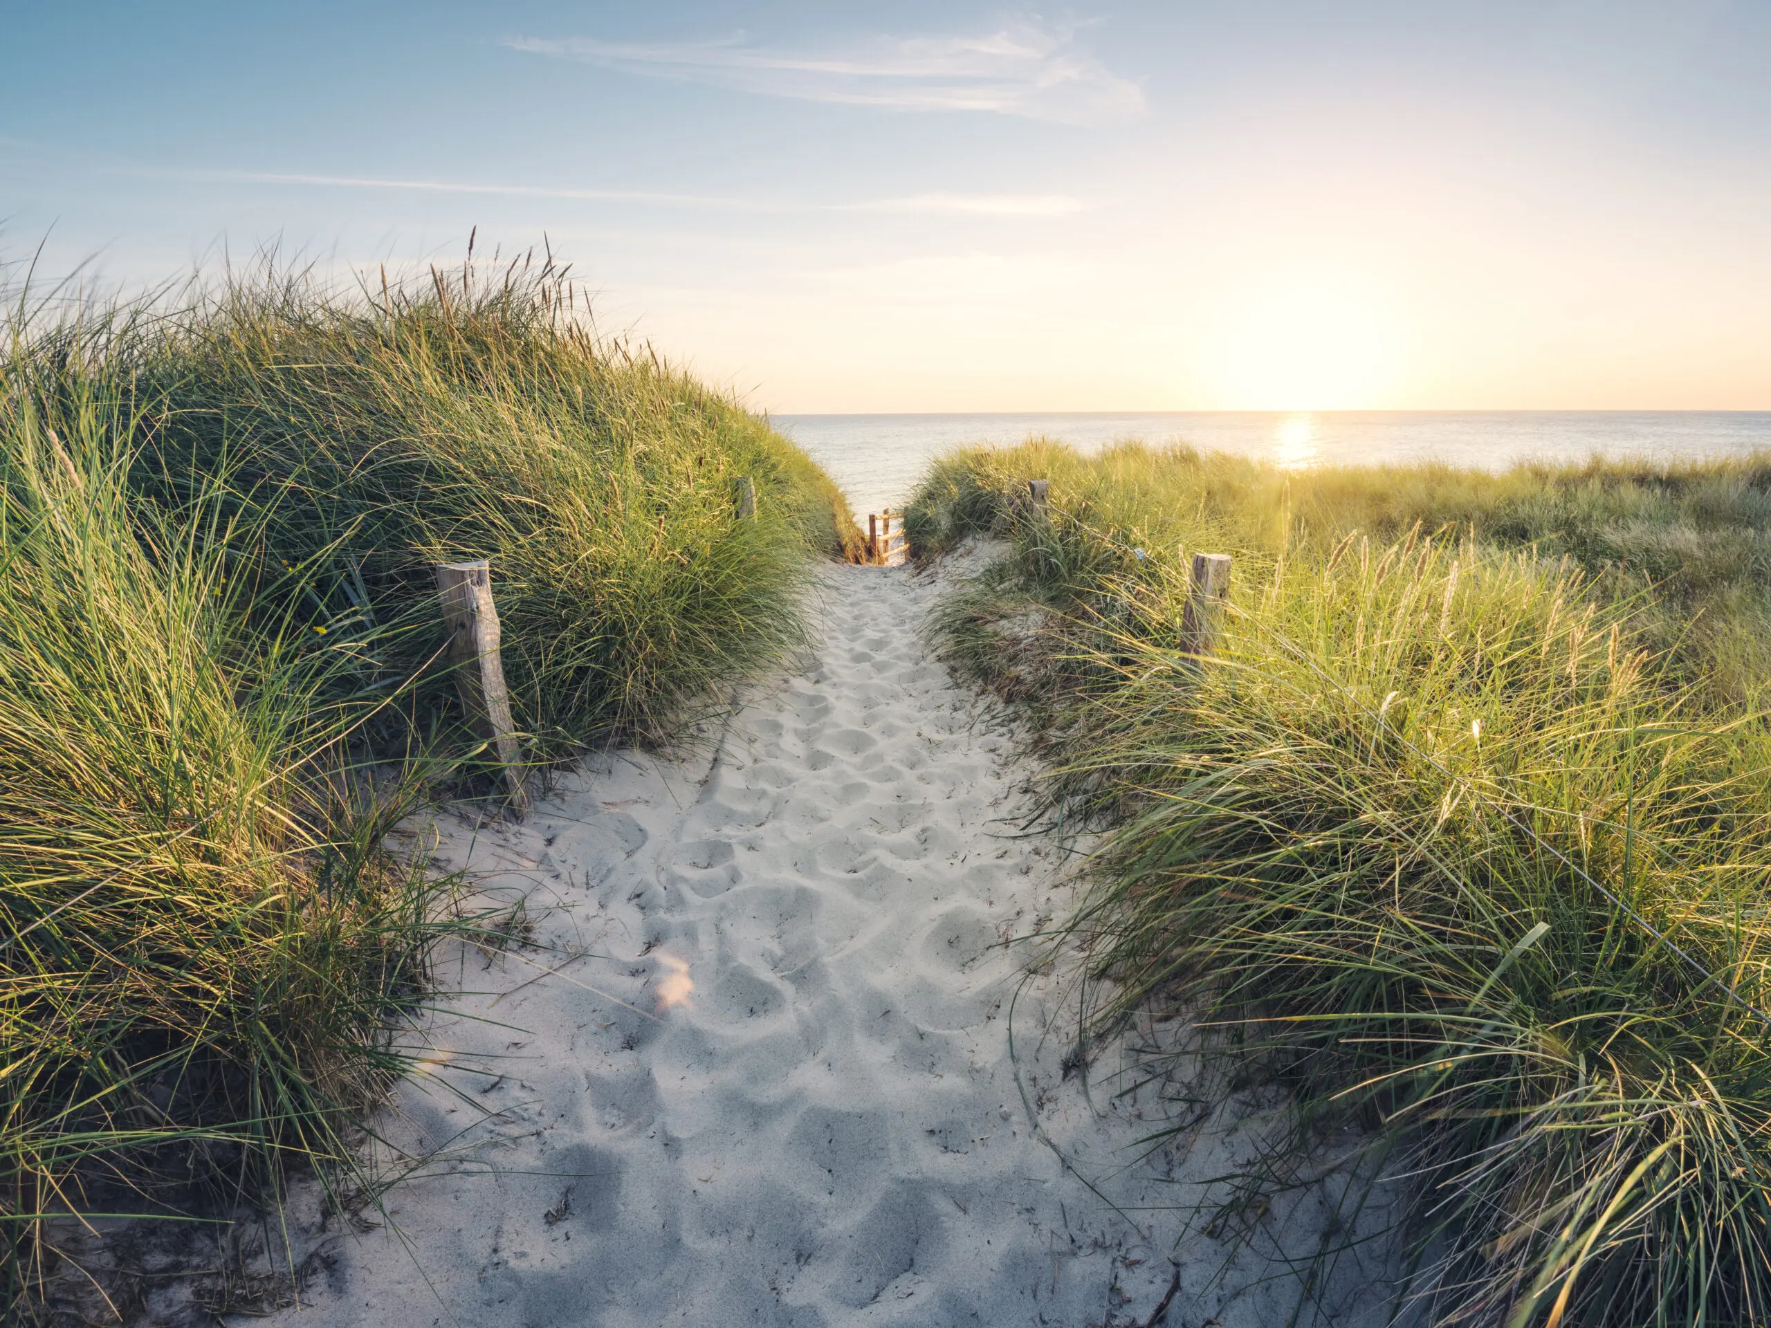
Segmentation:
<svg viewBox="0 0 1771 1328">
<path fill-rule="evenodd" d="M 429 565 L 489 556 L 535 763 L 668 737 L 800 639 L 854 522 L 551 269 L 260 273 L 0 354 L 0 1317 L 81 1218 L 361 1188 L 462 882 L 384 848 L 471 767 Z M 739 521 L 749 475 L 760 515 Z M 74 1275 L 78 1280 L 78 1275 Z M 101 1296 L 103 1300 L 103 1296 Z M 101 1314 L 117 1307 L 99 1305 Z"/>
</svg>

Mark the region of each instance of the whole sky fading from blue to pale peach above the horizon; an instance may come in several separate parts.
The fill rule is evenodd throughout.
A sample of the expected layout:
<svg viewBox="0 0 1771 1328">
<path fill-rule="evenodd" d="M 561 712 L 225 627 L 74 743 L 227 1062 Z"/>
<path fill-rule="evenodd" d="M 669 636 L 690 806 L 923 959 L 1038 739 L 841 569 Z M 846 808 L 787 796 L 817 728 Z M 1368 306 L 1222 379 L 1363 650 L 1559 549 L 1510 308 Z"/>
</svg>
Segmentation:
<svg viewBox="0 0 1771 1328">
<path fill-rule="evenodd" d="M 549 244 L 774 413 L 1771 409 L 1771 0 L 0 0 L 0 259 Z"/>
</svg>

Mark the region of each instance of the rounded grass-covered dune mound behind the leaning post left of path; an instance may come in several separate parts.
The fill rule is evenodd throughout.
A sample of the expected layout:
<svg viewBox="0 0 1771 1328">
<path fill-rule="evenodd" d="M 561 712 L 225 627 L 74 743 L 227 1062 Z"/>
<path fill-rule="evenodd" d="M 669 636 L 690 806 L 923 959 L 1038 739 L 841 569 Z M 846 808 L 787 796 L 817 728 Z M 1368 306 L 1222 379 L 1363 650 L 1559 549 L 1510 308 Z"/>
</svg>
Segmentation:
<svg viewBox="0 0 1771 1328">
<path fill-rule="evenodd" d="M 386 627 L 432 563 L 491 558 L 531 751 L 662 737 L 797 641 L 813 554 L 859 556 L 854 517 L 756 416 L 590 333 L 560 269 L 476 271 L 209 292 L 131 347 L 158 404 L 133 478 L 174 505 L 225 480 L 271 513 L 264 567 L 306 568 L 296 598 L 324 632 Z M 733 517 L 740 476 L 754 521 Z M 425 627 L 381 630 L 363 668 L 411 673 Z"/>
</svg>

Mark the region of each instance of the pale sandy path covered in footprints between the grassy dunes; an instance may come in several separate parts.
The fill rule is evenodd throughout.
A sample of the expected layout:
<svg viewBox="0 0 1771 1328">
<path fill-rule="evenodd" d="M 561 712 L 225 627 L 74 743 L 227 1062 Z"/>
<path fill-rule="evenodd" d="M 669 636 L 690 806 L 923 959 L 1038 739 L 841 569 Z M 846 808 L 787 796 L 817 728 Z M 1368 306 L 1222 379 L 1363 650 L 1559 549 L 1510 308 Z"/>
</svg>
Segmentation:
<svg viewBox="0 0 1771 1328">
<path fill-rule="evenodd" d="M 1052 843 L 1008 838 L 1013 733 L 916 634 L 937 593 L 834 568 L 816 659 L 751 691 L 710 768 L 618 758 L 526 825 L 439 827 L 545 949 L 445 974 L 473 990 L 432 1029 L 455 1055 L 383 1128 L 452 1162 L 390 1193 L 397 1238 L 319 1238 L 331 1271 L 287 1324 L 1142 1324 L 1169 1255 L 1165 1323 L 1286 1319 L 1284 1270 L 1174 1248 L 1153 1209 L 1256 1135 L 1137 1162 L 1160 1114 L 1114 1101 L 1110 1066 L 1093 1105 L 1063 1077 L 1054 976 L 1009 1057 L 1025 953 L 997 942 L 1066 896 Z M 1268 1222 L 1309 1252 L 1319 1204 L 1288 1202 Z"/>
</svg>

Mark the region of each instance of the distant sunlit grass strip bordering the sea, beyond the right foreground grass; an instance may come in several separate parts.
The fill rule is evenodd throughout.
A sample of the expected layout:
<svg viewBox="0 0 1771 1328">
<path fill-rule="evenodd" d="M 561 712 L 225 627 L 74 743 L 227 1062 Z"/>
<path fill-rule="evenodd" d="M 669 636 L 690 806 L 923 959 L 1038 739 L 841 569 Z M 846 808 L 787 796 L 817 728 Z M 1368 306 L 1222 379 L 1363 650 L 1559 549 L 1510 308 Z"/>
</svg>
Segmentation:
<svg viewBox="0 0 1771 1328">
<path fill-rule="evenodd" d="M 1227 552 L 1321 558 L 1346 535 L 1378 542 L 1470 533 L 1488 547 L 1567 558 L 1589 595 L 1631 600 L 1654 652 L 1688 685 L 1748 703 L 1771 680 L 1771 457 L 1652 466 L 1339 466 L 1286 471 L 1192 448 L 1082 457 L 1048 441 L 956 452 L 932 469 L 907 526 L 939 551 L 990 529 L 1024 476 L 1132 547 L 1204 542 Z"/>
</svg>

